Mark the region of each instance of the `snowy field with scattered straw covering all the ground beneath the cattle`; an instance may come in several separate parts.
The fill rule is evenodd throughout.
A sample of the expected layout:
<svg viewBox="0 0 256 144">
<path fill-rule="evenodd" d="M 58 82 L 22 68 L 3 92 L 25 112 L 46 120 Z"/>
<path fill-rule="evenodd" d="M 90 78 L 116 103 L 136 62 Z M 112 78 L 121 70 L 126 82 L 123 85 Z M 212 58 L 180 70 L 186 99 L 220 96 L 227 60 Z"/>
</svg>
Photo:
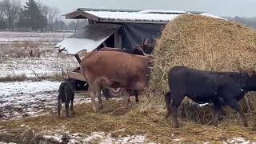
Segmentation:
<svg viewBox="0 0 256 144">
<path fill-rule="evenodd" d="M 78 66 L 53 48 L 68 35 L 0 32 L 0 143 L 256 143 L 251 119 L 248 128 L 236 116 L 214 127 L 181 116 L 182 126 L 174 129 L 163 104 L 151 106 L 143 97 L 139 103 L 132 98 L 129 110 L 119 98 L 103 98 L 104 109 L 94 113 L 88 93 L 79 91 L 71 118 L 64 107 L 58 118 L 58 86 Z"/>
</svg>

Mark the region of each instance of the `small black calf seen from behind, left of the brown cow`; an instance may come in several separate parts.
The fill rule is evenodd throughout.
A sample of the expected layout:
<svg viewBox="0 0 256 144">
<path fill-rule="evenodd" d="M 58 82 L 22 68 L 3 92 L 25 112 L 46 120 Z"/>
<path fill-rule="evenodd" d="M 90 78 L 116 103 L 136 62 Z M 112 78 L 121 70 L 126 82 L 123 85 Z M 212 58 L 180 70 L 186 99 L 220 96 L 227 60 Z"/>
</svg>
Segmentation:
<svg viewBox="0 0 256 144">
<path fill-rule="evenodd" d="M 71 104 L 70 104 L 71 102 Z M 69 114 L 69 106 L 70 110 L 74 110 L 73 108 L 73 102 L 74 102 L 74 89 L 70 85 L 70 82 L 62 82 L 59 86 L 58 90 L 58 116 L 60 116 L 60 112 L 62 109 L 62 103 L 65 103 L 66 108 L 66 117 L 68 118 L 70 116 Z"/>
</svg>

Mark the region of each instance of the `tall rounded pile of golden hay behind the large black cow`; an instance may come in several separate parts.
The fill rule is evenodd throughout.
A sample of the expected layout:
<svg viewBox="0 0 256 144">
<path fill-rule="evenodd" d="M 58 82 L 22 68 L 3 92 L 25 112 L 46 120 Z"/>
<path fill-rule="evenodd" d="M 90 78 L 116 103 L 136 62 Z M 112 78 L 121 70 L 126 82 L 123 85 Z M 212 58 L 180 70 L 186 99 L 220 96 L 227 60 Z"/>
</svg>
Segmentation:
<svg viewBox="0 0 256 144">
<path fill-rule="evenodd" d="M 169 90 L 166 74 L 177 65 L 199 70 L 256 70 L 256 31 L 222 19 L 180 16 L 166 25 L 157 40 L 149 86 L 152 97 L 163 101 Z M 254 107 L 255 102 L 256 98 Z"/>
</svg>

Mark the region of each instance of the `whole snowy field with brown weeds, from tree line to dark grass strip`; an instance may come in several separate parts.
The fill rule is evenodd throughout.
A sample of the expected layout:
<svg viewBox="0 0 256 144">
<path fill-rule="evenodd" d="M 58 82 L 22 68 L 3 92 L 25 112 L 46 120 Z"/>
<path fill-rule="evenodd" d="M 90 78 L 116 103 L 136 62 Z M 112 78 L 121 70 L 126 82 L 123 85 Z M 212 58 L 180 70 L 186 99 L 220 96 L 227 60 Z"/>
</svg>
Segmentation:
<svg viewBox="0 0 256 144">
<path fill-rule="evenodd" d="M 0 43 L 6 42 L 0 44 L 0 78 L 20 75 L 52 76 L 72 70 L 78 66 L 74 56 L 58 54 L 58 50 L 54 49 L 58 42 L 70 34 L 65 33 L 63 37 L 62 33 L 0 31 Z M 29 58 L 30 50 L 34 50 L 35 55 L 40 54 L 40 58 Z"/>
</svg>

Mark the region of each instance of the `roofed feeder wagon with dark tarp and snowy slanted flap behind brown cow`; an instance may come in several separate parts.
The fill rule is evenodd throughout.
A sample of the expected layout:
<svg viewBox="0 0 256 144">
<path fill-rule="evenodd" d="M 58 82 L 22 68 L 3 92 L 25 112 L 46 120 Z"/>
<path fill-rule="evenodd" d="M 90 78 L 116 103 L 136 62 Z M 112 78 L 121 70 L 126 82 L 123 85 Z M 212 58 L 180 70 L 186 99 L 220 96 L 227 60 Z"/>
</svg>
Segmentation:
<svg viewBox="0 0 256 144">
<path fill-rule="evenodd" d="M 78 53 L 82 51 L 100 50 L 103 46 L 134 49 L 134 46 L 140 45 L 144 39 L 154 43 L 164 26 L 182 14 L 201 14 L 219 18 L 197 11 L 78 8 L 64 16 L 66 19 L 86 19 L 89 24 L 77 30 L 70 38 L 59 42 L 55 48 L 74 55 L 80 64 L 81 58 Z M 79 67 L 68 72 L 67 76 L 77 90 L 88 89 Z M 122 88 L 110 88 L 103 91 L 103 94 L 118 97 L 122 92 Z"/>
</svg>

